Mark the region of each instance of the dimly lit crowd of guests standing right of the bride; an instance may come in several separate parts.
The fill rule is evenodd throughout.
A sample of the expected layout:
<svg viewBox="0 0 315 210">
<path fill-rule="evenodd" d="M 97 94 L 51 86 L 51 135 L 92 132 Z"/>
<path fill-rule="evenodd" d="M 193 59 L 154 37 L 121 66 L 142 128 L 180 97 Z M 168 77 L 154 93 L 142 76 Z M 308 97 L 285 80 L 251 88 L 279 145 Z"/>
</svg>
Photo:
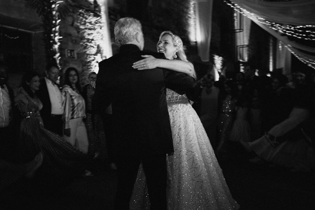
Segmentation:
<svg viewBox="0 0 315 210">
<path fill-rule="evenodd" d="M 241 145 L 253 163 L 314 169 L 315 83 L 310 70 L 295 69 L 289 80 L 281 69 L 267 76 L 246 64 L 234 78 L 221 75 L 215 82 L 207 74 L 198 82 L 201 97 L 194 108 L 213 136 L 217 155 L 225 158 Z"/>
</svg>

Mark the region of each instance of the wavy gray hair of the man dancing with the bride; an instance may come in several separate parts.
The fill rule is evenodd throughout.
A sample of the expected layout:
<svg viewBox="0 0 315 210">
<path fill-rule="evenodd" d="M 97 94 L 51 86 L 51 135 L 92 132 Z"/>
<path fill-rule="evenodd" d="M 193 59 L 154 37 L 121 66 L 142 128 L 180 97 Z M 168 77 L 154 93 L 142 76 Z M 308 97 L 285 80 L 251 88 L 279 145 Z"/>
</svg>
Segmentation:
<svg viewBox="0 0 315 210">
<path fill-rule="evenodd" d="M 135 40 L 137 32 L 142 32 L 142 26 L 139 20 L 135 18 L 121 18 L 114 28 L 115 42 L 118 46 Z"/>
</svg>

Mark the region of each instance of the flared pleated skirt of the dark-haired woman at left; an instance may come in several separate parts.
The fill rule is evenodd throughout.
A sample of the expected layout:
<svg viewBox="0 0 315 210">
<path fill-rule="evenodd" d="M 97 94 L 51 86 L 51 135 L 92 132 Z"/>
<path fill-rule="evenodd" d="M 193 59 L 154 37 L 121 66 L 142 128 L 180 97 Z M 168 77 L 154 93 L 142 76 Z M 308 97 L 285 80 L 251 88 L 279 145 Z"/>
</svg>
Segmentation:
<svg viewBox="0 0 315 210">
<path fill-rule="evenodd" d="M 85 154 L 61 136 L 43 128 L 40 116 L 28 116 L 22 119 L 20 147 L 23 162 L 30 161 L 42 151 L 42 167 L 55 177 L 80 175 L 88 160 Z"/>
</svg>

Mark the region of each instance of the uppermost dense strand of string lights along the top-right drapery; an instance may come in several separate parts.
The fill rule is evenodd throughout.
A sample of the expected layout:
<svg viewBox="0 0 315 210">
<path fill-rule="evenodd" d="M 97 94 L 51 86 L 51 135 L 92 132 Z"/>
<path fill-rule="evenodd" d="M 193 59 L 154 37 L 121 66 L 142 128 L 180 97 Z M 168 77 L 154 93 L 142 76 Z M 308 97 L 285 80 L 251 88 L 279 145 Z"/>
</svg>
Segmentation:
<svg viewBox="0 0 315 210">
<path fill-rule="evenodd" d="M 280 33 L 286 34 L 287 36 L 292 36 L 299 39 L 305 39 L 305 40 L 315 40 L 315 31 L 311 31 L 309 28 L 315 28 L 315 25 L 305 25 L 305 26 L 292 26 L 292 25 L 282 25 L 275 22 L 270 22 L 266 20 L 265 18 L 262 18 L 258 15 L 255 15 L 246 9 L 243 9 L 242 7 L 238 6 L 238 4 L 235 4 L 233 2 L 228 2 L 224 0 L 224 2 L 232 7 L 235 11 L 237 11 L 239 14 L 248 17 L 249 19 L 259 22 L 261 24 L 264 24 L 268 26 L 269 28 L 279 31 Z M 234 14 L 235 19 L 235 14 Z M 234 21 L 235 24 L 235 21 Z"/>
</svg>

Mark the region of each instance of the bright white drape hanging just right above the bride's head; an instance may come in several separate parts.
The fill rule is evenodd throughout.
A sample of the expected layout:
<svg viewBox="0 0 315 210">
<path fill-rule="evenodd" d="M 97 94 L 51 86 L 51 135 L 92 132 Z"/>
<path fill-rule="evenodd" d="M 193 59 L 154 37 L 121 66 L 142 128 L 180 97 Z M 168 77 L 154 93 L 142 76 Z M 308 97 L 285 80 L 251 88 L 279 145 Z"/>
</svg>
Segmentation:
<svg viewBox="0 0 315 210">
<path fill-rule="evenodd" d="M 196 0 L 196 39 L 198 55 L 204 62 L 210 59 L 213 0 Z"/>
</svg>

